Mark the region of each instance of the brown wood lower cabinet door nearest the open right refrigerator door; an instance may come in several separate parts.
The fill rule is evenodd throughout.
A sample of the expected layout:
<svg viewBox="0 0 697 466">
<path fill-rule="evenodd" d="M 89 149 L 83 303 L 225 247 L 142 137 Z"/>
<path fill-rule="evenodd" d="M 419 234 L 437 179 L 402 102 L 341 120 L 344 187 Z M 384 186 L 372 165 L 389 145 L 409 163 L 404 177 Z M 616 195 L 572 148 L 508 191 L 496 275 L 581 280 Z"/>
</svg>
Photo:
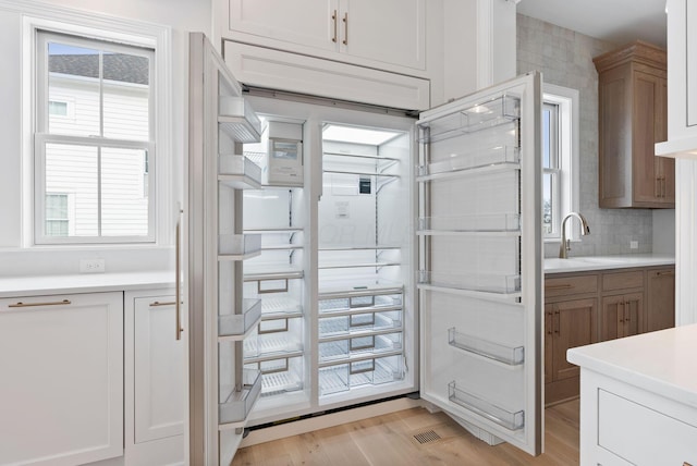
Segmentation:
<svg viewBox="0 0 697 466">
<path fill-rule="evenodd" d="M 592 343 L 596 299 L 577 299 L 554 305 L 552 378 L 578 377 L 579 368 L 566 361 L 566 350 Z"/>
</svg>

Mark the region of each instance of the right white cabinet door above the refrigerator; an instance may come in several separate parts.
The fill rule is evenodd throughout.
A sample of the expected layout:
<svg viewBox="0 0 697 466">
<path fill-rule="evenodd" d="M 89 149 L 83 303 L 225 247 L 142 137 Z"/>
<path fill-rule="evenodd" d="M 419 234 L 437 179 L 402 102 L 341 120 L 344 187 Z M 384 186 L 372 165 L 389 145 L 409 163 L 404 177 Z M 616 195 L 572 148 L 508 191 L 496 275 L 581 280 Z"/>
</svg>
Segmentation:
<svg viewBox="0 0 697 466">
<path fill-rule="evenodd" d="M 426 69 L 425 0 L 341 0 L 341 49 L 383 63 Z"/>
</svg>

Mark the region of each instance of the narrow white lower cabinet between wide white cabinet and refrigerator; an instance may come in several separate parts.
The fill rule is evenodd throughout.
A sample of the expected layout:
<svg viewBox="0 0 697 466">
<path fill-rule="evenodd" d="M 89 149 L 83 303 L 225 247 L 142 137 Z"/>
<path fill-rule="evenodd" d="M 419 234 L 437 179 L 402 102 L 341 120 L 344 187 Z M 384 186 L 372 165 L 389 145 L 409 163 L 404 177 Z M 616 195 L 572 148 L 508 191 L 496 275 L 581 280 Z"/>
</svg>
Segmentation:
<svg viewBox="0 0 697 466">
<path fill-rule="evenodd" d="M 184 463 L 186 373 L 171 290 L 125 294 L 125 464 Z"/>
</svg>

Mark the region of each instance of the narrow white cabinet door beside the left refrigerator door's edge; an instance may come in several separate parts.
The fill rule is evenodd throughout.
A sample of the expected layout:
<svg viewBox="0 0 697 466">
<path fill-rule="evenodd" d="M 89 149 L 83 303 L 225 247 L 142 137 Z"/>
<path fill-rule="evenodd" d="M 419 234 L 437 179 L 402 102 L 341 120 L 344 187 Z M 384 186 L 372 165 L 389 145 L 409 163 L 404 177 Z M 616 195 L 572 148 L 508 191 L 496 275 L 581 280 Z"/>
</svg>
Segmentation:
<svg viewBox="0 0 697 466">
<path fill-rule="evenodd" d="M 174 299 L 134 299 L 135 443 L 184 433 L 185 354 Z"/>
</svg>

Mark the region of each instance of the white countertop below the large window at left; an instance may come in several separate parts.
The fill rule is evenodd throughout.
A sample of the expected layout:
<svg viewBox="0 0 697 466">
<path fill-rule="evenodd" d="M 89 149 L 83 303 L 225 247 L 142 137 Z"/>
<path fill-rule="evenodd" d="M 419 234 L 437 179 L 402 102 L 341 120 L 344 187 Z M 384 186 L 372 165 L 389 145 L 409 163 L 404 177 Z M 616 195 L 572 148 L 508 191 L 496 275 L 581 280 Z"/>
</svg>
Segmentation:
<svg viewBox="0 0 697 466">
<path fill-rule="evenodd" d="M 174 287 L 173 271 L 0 278 L 0 297 L 98 293 L 161 287 Z"/>
</svg>

